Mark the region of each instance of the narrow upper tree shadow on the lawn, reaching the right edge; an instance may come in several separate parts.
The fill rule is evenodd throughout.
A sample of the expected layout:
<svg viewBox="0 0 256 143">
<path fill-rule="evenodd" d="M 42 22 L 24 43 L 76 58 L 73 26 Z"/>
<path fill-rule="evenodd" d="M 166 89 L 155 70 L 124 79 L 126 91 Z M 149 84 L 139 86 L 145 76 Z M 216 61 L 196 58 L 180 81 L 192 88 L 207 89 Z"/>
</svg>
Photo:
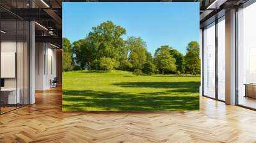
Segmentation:
<svg viewBox="0 0 256 143">
<path fill-rule="evenodd" d="M 120 82 L 113 85 L 120 87 L 168 88 L 172 92 L 198 93 L 200 82 Z"/>
</svg>

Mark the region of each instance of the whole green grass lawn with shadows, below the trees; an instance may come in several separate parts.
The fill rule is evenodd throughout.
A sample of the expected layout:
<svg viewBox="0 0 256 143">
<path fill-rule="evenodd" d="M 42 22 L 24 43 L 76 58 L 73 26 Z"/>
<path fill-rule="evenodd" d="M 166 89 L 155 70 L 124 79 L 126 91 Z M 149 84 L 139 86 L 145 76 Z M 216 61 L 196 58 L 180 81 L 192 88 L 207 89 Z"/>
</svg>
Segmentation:
<svg viewBox="0 0 256 143">
<path fill-rule="evenodd" d="M 63 73 L 63 111 L 198 110 L 200 77 Z"/>
</svg>

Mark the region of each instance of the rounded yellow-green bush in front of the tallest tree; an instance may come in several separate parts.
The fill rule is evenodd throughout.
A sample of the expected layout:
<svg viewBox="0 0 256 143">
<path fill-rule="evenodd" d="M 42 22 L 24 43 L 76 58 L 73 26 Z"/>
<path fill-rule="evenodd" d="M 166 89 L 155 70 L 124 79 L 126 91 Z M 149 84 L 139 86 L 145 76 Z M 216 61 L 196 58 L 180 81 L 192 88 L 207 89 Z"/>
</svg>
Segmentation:
<svg viewBox="0 0 256 143">
<path fill-rule="evenodd" d="M 102 57 L 99 60 L 99 68 L 100 70 L 115 70 L 119 63 L 110 57 Z"/>
</svg>

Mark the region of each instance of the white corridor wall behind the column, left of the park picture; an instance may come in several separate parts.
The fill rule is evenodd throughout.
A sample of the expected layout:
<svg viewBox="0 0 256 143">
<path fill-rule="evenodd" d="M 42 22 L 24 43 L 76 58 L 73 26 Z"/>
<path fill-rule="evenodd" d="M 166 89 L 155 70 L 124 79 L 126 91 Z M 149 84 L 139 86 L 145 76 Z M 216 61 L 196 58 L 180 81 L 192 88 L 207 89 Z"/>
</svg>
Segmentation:
<svg viewBox="0 0 256 143">
<path fill-rule="evenodd" d="M 36 43 L 35 69 L 35 89 L 51 88 L 50 80 L 56 77 L 56 49 L 49 43 Z"/>
</svg>

